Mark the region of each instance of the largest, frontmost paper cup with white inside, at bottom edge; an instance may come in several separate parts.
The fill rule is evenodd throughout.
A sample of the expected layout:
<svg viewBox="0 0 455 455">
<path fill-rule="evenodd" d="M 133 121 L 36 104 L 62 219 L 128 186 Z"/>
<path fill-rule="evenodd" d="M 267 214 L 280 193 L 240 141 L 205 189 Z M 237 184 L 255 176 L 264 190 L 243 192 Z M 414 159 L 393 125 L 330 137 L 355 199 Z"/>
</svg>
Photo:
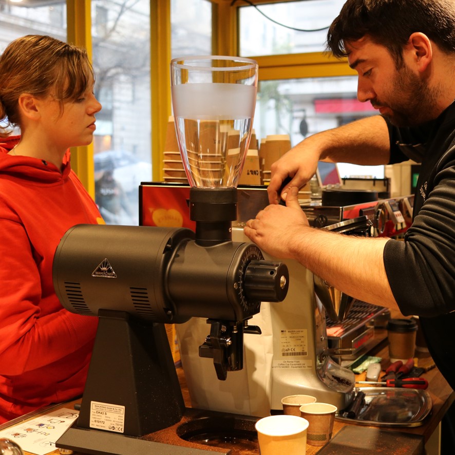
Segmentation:
<svg viewBox="0 0 455 455">
<path fill-rule="evenodd" d="M 261 455 L 305 455 L 308 421 L 296 415 L 270 415 L 256 422 Z"/>
</svg>

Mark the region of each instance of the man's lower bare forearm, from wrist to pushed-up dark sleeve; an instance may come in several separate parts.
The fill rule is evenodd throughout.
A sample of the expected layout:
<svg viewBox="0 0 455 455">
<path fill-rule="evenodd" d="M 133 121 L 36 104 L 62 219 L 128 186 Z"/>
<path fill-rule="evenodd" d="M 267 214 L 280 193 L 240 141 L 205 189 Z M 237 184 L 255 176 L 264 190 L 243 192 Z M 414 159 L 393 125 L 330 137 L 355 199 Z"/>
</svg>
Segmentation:
<svg viewBox="0 0 455 455">
<path fill-rule="evenodd" d="M 303 266 L 336 289 L 375 305 L 398 309 L 384 268 L 384 246 L 388 240 L 302 226 L 291 248 Z"/>
</svg>

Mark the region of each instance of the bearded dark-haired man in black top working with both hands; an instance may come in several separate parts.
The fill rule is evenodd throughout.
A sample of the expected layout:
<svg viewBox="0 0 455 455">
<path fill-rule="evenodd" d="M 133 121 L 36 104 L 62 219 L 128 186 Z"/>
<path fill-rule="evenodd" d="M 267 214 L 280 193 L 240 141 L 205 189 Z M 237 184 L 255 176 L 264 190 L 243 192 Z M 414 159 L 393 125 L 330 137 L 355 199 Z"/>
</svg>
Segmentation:
<svg viewBox="0 0 455 455">
<path fill-rule="evenodd" d="M 455 2 L 348 0 L 327 43 L 357 71 L 358 99 L 381 115 L 310 136 L 274 163 L 271 205 L 244 232 L 352 297 L 420 316 L 431 356 L 455 389 Z M 404 241 L 310 228 L 297 191 L 318 160 L 409 159 L 421 172 Z M 280 196 L 286 206 L 277 204 Z"/>
</svg>

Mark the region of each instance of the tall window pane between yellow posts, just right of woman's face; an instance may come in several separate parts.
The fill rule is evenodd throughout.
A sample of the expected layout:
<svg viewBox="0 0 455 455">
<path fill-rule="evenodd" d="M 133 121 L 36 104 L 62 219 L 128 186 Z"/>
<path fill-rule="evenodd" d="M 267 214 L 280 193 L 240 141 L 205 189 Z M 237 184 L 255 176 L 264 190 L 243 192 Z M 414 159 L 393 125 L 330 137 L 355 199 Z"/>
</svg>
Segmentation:
<svg viewBox="0 0 455 455">
<path fill-rule="evenodd" d="M 151 180 L 150 3 L 92 0 L 95 200 L 108 224 L 138 224 L 139 185 Z"/>
</svg>

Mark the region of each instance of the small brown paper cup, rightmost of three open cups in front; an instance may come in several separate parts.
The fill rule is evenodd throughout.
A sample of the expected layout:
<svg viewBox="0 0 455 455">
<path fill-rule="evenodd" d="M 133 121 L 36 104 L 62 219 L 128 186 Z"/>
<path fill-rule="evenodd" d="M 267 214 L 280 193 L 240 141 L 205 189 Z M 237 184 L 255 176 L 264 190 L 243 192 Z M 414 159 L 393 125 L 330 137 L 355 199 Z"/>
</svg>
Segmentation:
<svg viewBox="0 0 455 455">
<path fill-rule="evenodd" d="M 337 407 L 329 403 L 308 403 L 300 406 L 300 415 L 309 423 L 307 443 L 323 446 L 332 438 Z"/>
</svg>

